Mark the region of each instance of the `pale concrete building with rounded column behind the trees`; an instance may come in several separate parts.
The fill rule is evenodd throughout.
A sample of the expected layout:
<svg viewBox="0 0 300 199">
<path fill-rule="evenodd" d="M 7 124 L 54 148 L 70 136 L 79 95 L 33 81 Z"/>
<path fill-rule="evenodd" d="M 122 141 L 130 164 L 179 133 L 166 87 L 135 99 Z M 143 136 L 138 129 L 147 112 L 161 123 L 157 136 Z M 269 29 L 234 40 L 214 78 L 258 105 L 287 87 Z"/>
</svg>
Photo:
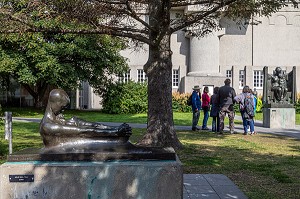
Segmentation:
<svg viewBox="0 0 300 199">
<path fill-rule="evenodd" d="M 192 10 L 176 10 L 172 15 L 188 11 Z M 231 78 L 237 93 L 248 85 L 262 94 L 264 66 L 269 71 L 280 66 L 286 72 L 296 66 L 300 74 L 300 9 L 292 3 L 270 17 L 253 17 L 241 25 L 226 18 L 219 23 L 222 29 L 204 38 L 189 36 L 187 31 L 172 35 L 174 91 L 191 92 L 196 84 L 222 86 L 226 78 Z M 147 50 L 126 50 L 122 55 L 130 60 L 125 80 L 145 81 L 143 65 L 148 58 Z M 297 88 L 300 92 L 300 77 Z M 93 93 L 92 88 L 89 93 Z M 89 98 L 85 99 L 88 108 L 100 108 L 100 98 Z"/>
</svg>

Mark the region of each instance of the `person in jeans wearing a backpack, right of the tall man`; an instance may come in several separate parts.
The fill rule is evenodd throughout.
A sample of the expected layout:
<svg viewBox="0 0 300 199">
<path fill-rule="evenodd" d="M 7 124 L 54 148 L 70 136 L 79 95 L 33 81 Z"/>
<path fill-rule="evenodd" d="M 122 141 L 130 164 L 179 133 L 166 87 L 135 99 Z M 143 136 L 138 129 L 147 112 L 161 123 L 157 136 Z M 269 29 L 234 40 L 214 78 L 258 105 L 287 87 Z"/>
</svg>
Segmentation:
<svg viewBox="0 0 300 199">
<path fill-rule="evenodd" d="M 250 135 L 255 134 L 254 131 L 254 96 L 249 86 L 243 88 L 243 92 L 237 95 L 234 100 L 240 104 L 240 112 L 243 119 L 244 135 L 248 134 L 248 126 L 250 126 Z"/>
</svg>

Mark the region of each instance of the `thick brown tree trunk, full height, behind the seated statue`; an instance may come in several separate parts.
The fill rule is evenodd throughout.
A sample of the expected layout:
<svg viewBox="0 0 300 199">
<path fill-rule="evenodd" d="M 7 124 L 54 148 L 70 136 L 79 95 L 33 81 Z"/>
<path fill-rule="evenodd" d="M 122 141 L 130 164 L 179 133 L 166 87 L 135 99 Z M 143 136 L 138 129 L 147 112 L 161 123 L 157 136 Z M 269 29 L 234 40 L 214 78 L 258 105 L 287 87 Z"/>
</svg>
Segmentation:
<svg viewBox="0 0 300 199">
<path fill-rule="evenodd" d="M 148 77 L 148 127 L 140 145 L 181 149 L 174 129 L 172 110 L 172 51 L 170 0 L 149 4 L 149 57 L 144 65 Z"/>
</svg>

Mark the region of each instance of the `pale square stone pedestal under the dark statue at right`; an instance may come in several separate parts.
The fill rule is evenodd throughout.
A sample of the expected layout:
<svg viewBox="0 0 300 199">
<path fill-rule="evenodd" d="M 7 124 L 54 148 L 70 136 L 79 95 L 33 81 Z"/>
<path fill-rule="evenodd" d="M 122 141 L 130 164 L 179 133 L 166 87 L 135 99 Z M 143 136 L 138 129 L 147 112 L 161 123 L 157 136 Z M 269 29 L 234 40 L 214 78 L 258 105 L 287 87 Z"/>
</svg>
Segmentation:
<svg viewBox="0 0 300 199">
<path fill-rule="evenodd" d="M 295 128 L 296 113 L 294 108 L 264 108 L 263 126 L 267 128 Z"/>
</svg>

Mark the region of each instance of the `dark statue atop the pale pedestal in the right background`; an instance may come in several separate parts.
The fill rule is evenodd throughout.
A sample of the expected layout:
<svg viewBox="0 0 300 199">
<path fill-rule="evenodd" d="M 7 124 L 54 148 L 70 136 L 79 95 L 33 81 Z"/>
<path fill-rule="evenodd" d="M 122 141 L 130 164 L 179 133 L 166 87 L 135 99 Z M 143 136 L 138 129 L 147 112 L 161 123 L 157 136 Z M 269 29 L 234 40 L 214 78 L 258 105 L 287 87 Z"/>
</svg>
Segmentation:
<svg viewBox="0 0 300 199">
<path fill-rule="evenodd" d="M 295 100 L 296 68 L 286 74 L 281 67 L 276 67 L 271 75 L 268 74 L 268 67 L 264 67 L 264 106 L 292 107 Z"/>
</svg>

